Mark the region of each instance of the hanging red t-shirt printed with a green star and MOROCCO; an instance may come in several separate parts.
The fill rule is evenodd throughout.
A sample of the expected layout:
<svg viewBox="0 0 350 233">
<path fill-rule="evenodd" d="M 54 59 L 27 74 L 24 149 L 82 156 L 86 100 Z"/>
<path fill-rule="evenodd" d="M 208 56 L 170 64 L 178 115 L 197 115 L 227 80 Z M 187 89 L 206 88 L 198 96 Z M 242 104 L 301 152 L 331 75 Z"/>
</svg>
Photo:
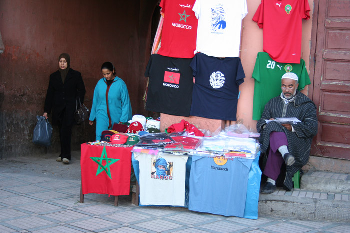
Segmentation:
<svg viewBox="0 0 350 233">
<path fill-rule="evenodd" d="M 196 48 L 198 19 L 192 10 L 195 0 L 162 0 L 164 23 L 158 54 L 192 58 Z"/>
</svg>

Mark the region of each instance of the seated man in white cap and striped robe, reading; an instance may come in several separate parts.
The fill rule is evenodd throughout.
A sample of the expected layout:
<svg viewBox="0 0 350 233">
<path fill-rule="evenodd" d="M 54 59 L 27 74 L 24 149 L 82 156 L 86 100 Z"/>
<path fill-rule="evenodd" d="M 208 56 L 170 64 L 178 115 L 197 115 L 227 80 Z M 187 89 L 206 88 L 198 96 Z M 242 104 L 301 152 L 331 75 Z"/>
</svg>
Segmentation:
<svg viewBox="0 0 350 233">
<path fill-rule="evenodd" d="M 294 73 L 282 76 L 282 93 L 272 98 L 265 105 L 261 119 L 256 128 L 260 133 L 261 152 L 268 151 L 268 157 L 263 174 L 267 182 L 261 193 L 270 194 L 276 190 L 276 179 L 282 164 L 286 164 L 284 188 L 292 189 L 292 177 L 304 166 L 311 150 L 311 141 L 317 134 L 316 106 L 306 95 L 297 90 L 298 77 Z M 271 121 L 276 117 L 296 117 L 301 122 L 297 124 L 280 124 Z"/>
</svg>

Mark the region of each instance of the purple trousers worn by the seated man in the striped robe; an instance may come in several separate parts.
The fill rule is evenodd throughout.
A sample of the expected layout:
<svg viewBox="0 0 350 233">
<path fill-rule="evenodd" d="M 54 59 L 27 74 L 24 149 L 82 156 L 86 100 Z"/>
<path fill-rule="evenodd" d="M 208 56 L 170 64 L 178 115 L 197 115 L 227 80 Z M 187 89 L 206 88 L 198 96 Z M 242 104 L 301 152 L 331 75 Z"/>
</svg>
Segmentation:
<svg viewBox="0 0 350 233">
<path fill-rule="evenodd" d="M 270 150 L 268 152 L 267 162 L 263 174 L 267 177 L 277 180 L 280 169 L 284 163 L 281 153 L 278 151 L 280 146 L 288 146 L 287 136 L 284 132 L 272 131 L 270 133 Z"/>
</svg>

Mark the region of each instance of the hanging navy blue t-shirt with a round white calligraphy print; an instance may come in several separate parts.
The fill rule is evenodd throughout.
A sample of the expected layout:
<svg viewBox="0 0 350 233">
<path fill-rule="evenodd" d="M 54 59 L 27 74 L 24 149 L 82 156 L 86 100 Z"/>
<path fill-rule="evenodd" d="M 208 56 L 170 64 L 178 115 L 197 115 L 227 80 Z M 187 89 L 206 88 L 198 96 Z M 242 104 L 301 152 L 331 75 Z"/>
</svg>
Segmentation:
<svg viewBox="0 0 350 233">
<path fill-rule="evenodd" d="M 190 115 L 236 121 L 239 85 L 245 78 L 240 58 L 197 53 L 190 66 L 195 76 Z"/>
</svg>

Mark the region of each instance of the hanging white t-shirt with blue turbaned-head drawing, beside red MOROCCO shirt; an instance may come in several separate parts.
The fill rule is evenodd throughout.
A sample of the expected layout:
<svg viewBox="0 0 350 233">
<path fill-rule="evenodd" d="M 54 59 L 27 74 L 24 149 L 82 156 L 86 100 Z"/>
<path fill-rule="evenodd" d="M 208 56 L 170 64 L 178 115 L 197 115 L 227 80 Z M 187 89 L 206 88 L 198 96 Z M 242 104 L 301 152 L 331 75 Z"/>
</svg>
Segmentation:
<svg viewBox="0 0 350 233">
<path fill-rule="evenodd" d="M 214 57 L 238 57 L 242 19 L 248 13 L 246 0 L 196 0 L 197 48 Z"/>
</svg>

